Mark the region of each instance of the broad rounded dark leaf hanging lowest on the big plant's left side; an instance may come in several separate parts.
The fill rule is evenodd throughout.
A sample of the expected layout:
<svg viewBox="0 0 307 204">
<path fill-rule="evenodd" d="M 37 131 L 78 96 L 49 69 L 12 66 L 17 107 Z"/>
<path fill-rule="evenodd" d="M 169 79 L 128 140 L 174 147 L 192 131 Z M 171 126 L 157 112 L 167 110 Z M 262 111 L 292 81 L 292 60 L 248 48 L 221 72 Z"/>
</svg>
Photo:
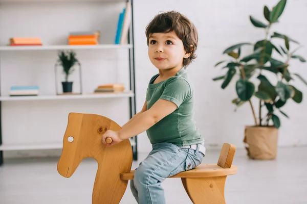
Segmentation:
<svg viewBox="0 0 307 204">
<path fill-rule="evenodd" d="M 254 91 L 255 86 L 253 83 L 243 79 L 236 82 L 236 92 L 241 100 L 249 100 L 254 95 Z"/>
</svg>

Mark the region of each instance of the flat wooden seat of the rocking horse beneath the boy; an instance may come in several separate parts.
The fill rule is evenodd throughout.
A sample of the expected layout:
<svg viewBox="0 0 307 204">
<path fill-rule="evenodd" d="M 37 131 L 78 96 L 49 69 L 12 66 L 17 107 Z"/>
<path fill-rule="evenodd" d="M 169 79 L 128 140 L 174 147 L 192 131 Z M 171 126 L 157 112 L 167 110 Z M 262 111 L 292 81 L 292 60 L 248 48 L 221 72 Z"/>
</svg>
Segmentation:
<svg viewBox="0 0 307 204">
<path fill-rule="evenodd" d="M 216 164 L 201 164 L 196 168 L 188 171 L 180 172 L 169 178 L 201 178 L 201 177 L 215 177 L 226 176 L 237 173 L 237 167 L 232 165 L 231 168 L 222 168 Z M 128 173 L 120 173 L 121 180 L 133 180 L 135 170 L 131 170 Z"/>
</svg>

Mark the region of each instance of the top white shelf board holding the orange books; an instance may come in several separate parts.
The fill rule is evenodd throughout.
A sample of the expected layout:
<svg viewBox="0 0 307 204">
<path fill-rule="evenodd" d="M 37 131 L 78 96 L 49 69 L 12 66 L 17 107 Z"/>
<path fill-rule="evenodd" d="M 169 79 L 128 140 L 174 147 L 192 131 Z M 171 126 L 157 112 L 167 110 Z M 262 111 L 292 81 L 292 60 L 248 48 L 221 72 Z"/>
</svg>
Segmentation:
<svg viewBox="0 0 307 204">
<path fill-rule="evenodd" d="M 131 44 L 99 44 L 99 45 L 32 45 L 32 46 L 0 46 L 0 51 L 18 50 L 58 50 L 58 49 L 127 49 Z"/>
</svg>

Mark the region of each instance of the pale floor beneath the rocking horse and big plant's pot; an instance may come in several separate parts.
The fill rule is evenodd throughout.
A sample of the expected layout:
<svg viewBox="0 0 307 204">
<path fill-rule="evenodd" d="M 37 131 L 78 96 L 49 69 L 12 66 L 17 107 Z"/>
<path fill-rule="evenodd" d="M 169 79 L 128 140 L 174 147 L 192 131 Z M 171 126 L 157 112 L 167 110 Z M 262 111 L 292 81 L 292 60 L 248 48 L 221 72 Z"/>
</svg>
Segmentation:
<svg viewBox="0 0 307 204">
<path fill-rule="evenodd" d="M 203 163 L 216 163 L 219 151 L 207 151 Z M 279 148 L 274 161 L 253 161 L 237 149 L 233 164 L 238 173 L 227 177 L 227 204 L 306 204 L 307 147 Z M 147 155 L 140 154 L 140 161 Z M 58 158 L 7 160 L 0 167 L 1 204 L 90 204 L 97 170 L 93 159 L 85 159 L 69 179 L 58 174 Z M 138 163 L 134 162 L 133 168 Z M 166 203 L 192 203 L 180 179 L 163 183 Z M 136 203 L 127 188 L 122 204 Z M 205 201 L 204 201 L 205 203 Z"/>
</svg>

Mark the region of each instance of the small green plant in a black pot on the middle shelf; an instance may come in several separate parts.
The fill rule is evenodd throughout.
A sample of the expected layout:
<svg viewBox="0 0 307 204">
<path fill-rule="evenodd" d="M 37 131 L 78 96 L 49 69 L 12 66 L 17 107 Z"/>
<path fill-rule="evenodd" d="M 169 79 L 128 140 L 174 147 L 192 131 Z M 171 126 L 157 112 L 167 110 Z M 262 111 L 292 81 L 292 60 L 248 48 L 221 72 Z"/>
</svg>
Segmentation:
<svg viewBox="0 0 307 204">
<path fill-rule="evenodd" d="M 74 65 L 78 64 L 79 61 L 76 58 L 76 53 L 72 50 L 59 51 L 58 61 L 63 68 L 63 73 L 65 74 L 65 81 L 62 82 L 63 93 L 71 93 L 73 91 L 73 82 L 68 81 L 69 75 L 74 71 Z"/>
</svg>

